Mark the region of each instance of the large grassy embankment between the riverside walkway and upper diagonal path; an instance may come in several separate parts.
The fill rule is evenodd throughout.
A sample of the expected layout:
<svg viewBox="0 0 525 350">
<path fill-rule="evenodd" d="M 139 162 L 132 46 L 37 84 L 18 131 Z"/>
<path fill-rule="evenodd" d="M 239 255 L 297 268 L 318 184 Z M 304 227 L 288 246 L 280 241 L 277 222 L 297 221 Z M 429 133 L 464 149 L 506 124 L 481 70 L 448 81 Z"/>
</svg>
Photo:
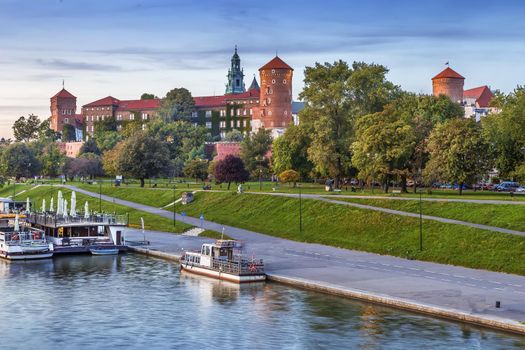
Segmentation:
<svg viewBox="0 0 525 350">
<path fill-rule="evenodd" d="M 420 252 L 417 219 L 321 201 L 303 200 L 302 233 L 295 198 L 200 192 L 185 211 L 297 241 L 525 275 L 520 236 L 425 221 Z"/>
</svg>

